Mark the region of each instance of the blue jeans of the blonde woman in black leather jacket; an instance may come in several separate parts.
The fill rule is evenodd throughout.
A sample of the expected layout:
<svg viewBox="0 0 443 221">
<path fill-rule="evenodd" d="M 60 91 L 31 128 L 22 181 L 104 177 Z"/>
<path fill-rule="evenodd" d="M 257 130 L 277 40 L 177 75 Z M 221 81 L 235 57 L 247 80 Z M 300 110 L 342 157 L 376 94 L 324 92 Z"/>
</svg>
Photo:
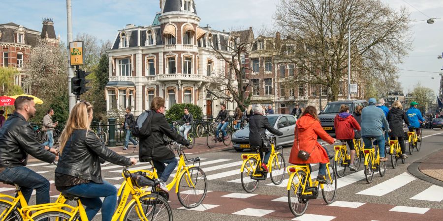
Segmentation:
<svg viewBox="0 0 443 221">
<path fill-rule="evenodd" d="M 117 204 L 117 188 L 108 181 L 103 180 L 103 184 L 91 181 L 91 183 L 73 186 L 63 192 L 80 197 L 82 204 L 86 207 L 88 220 L 93 220 L 101 208 L 101 220 L 111 221 Z M 104 197 L 103 202 L 100 197 Z"/>
</svg>

